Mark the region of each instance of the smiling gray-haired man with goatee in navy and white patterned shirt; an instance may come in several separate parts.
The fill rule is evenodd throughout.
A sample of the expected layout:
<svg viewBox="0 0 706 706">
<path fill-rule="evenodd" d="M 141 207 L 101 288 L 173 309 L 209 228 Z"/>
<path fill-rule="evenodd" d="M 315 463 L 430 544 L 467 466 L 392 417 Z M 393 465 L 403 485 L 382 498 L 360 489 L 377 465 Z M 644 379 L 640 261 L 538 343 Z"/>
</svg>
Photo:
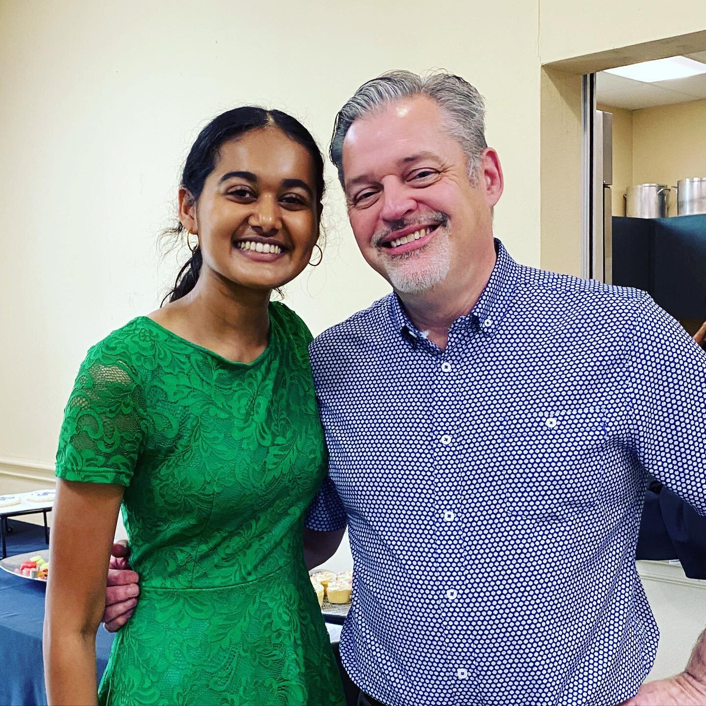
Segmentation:
<svg viewBox="0 0 706 706">
<path fill-rule="evenodd" d="M 465 80 L 369 81 L 331 157 L 394 289 L 310 348 L 330 466 L 306 545 L 319 563 L 348 526 L 361 704 L 633 697 L 658 639 L 635 569 L 647 474 L 706 513 L 706 356 L 644 292 L 493 239 L 503 174 Z M 634 703 L 706 702 L 703 652 Z"/>
</svg>

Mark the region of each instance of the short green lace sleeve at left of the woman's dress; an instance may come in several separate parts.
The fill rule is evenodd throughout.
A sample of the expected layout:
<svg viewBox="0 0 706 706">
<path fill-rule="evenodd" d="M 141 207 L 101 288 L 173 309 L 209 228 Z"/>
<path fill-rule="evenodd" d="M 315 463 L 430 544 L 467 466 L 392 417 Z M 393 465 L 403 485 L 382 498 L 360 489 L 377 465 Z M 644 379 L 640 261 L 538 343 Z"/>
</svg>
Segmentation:
<svg viewBox="0 0 706 706">
<path fill-rule="evenodd" d="M 56 475 L 127 486 L 145 435 L 145 398 L 126 356 L 100 344 L 83 361 L 64 410 Z"/>
</svg>

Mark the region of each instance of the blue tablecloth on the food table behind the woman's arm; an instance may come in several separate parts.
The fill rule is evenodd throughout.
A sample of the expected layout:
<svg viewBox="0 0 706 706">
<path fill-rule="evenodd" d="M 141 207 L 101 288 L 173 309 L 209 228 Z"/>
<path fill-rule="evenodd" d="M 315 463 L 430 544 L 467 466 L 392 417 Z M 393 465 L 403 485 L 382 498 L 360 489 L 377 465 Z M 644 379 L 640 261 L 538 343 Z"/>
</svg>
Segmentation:
<svg viewBox="0 0 706 706">
<path fill-rule="evenodd" d="M 8 555 L 37 551 L 47 554 L 44 528 L 9 520 Z M 45 706 L 42 665 L 44 592 L 38 581 L 28 581 L 0 571 L 0 704 Z M 113 635 L 102 627 L 96 637 L 97 674 L 100 679 L 108 661 Z"/>
</svg>

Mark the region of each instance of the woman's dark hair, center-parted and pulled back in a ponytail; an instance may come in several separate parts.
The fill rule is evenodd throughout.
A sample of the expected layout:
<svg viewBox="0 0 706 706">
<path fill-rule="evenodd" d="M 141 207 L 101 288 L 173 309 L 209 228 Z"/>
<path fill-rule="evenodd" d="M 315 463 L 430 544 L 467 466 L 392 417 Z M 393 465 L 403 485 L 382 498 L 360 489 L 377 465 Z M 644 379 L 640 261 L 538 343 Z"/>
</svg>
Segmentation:
<svg viewBox="0 0 706 706">
<path fill-rule="evenodd" d="M 318 200 L 318 218 L 321 221 L 325 191 L 321 150 L 319 150 L 311 133 L 296 118 L 281 110 L 265 110 L 247 105 L 227 110 L 215 117 L 198 133 L 196 142 L 191 145 L 189 156 L 186 157 L 186 164 L 184 164 L 184 172 L 181 174 L 181 186 L 189 191 L 194 202 L 198 201 L 208 175 L 213 172 L 218 152 L 223 143 L 239 138 L 251 130 L 266 127 L 279 128 L 288 138 L 299 143 L 311 155 L 316 170 L 316 198 Z M 183 232 L 184 226 L 180 222 L 174 228 L 167 228 L 164 235 L 181 236 Z M 196 280 L 198 280 L 202 264 L 201 248 L 196 246 L 196 249 L 191 253 L 191 258 L 179 270 L 174 288 L 162 299 L 162 305 L 167 300 L 177 301 L 191 292 L 191 289 L 196 285 Z"/>
</svg>

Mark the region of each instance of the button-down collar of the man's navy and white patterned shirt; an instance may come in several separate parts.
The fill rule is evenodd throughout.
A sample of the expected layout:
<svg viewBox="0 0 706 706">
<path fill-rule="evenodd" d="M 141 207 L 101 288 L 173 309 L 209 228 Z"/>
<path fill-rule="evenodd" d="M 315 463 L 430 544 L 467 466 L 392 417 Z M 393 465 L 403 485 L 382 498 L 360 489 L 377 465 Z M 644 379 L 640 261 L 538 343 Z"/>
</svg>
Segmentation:
<svg viewBox="0 0 706 706">
<path fill-rule="evenodd" d="M 469 314 L 460 316 L 454 322 L 454 325 L 475 324 L 484 335 L 488 336 L 496 332 L 505 311 L 508 310 L 515 293 L 517 275 L 520 272 L 520 265 L 510 257 L 510 253 L 497 238 L 495 249 L 497 253 L 495 267 L 480 299 Z M 421 331 L 409 320 L 397 294 L 390 296 L 390 319 L 395 331 L 398 331 L 410 345 L 424 338 Z"/>
</svg>

